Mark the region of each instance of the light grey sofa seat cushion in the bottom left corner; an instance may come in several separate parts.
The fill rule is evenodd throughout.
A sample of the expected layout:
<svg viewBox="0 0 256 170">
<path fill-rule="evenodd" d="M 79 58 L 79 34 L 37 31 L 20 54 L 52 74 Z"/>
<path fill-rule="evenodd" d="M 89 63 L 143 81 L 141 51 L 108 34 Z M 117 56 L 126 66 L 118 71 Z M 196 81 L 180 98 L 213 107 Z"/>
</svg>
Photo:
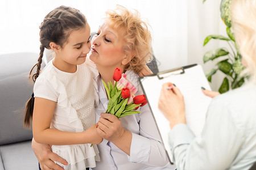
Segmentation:
<svg viewBox="0 0 256 170">
<path fill-rule="evenodd" d="M 38 169 L 38 160 L 31 148 L 31 141 L 0 146 L 3 166 L 11 169 Z M 1 169 L 1 167 L 0 167 Z"/>
</svg>

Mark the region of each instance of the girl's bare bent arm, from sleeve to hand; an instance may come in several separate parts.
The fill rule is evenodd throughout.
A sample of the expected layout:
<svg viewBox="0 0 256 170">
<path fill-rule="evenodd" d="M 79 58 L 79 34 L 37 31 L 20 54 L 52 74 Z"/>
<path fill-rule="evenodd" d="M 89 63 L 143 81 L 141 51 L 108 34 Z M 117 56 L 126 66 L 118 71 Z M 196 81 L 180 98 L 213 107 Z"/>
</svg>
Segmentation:
<svg viewBox="0 0 256 170">
<path fill-rule="evenodd" d="M 32 129 L 36 142 L 49 145 L 101 143 L 102 138 L 96 132 L 97 124 L 80 133 L 50 129 L 55 105 L 55 101 L 35 97 Z"/>
</svg>

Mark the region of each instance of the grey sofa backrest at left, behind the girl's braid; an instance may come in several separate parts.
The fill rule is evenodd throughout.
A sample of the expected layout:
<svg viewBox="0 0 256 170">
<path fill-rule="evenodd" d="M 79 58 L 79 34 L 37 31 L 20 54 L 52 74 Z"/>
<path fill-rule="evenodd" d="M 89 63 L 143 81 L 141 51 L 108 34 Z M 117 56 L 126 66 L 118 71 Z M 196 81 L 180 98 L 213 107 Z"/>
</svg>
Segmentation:
<svg viewBox="0 0 256 170">
<path fill-rule="evenodd" d="M 34 85 L 28 74 L 37 59 L 36 53 L 0 55 L 0 146 L 32 139 L 32 131 L 23 128 L 23 111 Z"/>
</svg>

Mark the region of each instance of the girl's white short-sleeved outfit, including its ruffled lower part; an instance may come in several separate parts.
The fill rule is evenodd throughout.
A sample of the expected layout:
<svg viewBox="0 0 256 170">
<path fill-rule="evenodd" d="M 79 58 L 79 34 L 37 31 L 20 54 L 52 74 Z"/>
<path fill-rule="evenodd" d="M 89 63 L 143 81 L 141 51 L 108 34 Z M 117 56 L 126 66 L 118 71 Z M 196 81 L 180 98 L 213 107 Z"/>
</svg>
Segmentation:
<svg viewBox="0 0 256 170">
<path fill-rule="evenodd" d="M 77 65 L 75 73 L 60 71 L 52 60 L 36 79 L 34 96 L 56 101 L 51 128 L 81 132 L 95 124 L 94 100 L 98 100 L 88 63 Z M 67 160 L 65 169 L 95 167 L 100 161 L 96 145 L 52 146 L 52 151 Z M 62 165 L 63 167 L 63 165 Z"/>
</svg>

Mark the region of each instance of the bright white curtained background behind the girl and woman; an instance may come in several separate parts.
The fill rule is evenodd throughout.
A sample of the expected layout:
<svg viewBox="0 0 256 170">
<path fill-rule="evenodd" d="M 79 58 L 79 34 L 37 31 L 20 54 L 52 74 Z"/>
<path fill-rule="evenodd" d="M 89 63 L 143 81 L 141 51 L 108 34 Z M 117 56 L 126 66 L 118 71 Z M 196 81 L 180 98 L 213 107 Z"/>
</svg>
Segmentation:
<svg viewBox="0 0 256 170">
<path fill-rule="evenodd" d="M 160 71 L 190 63 L 203 64 L 203 54 L 218 42 L 203 47 L 204 38 L 225 31 L 220 19 L 220 0 L 1 0 L 0 54 L 39 53 L 39 25 L 53 8 L 66 5 L 85 14 L 91 31 L 97 31 L 105 11 L 119 4 L 136 9 L 151 25 L 152 48 Z M 223 27 L 223 28 L 222 28 Z M 0 61 L 1 62 L 1 61 Z M 214 79 L 213 79 L 214 81 Z M 216 90 L 216 84 L 211 84 Z"/>
</svg>

